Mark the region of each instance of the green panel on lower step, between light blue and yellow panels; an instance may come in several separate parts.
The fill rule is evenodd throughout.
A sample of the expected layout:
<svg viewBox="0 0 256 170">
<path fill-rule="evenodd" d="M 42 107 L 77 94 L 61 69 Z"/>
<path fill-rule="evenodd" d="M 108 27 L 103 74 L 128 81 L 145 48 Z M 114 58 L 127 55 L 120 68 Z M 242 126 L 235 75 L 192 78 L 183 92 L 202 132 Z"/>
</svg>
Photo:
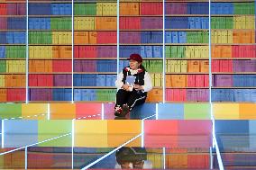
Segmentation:
<svg viewBox="0 0 256 170">
<path fill-rule="evenodd" d="M 72 121 L 38 121 L 38 141 L 53 139 L 72 132 Z M 72 135 L 39 144 L 39 147 L 71 147 Z"/>
</svg>

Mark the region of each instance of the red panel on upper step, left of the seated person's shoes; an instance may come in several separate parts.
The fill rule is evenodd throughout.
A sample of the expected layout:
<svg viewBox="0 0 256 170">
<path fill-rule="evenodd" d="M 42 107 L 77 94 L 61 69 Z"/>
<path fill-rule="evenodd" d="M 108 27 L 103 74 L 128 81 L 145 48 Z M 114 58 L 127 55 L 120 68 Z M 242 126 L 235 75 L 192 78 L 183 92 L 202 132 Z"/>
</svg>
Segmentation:
<svg viewBox="0 0 256 170">
<path fill-rule="evenodd" d="M 101 103 L 76 103 L 76 118 L 101 120 L 101 105 Z"/>
</svg>

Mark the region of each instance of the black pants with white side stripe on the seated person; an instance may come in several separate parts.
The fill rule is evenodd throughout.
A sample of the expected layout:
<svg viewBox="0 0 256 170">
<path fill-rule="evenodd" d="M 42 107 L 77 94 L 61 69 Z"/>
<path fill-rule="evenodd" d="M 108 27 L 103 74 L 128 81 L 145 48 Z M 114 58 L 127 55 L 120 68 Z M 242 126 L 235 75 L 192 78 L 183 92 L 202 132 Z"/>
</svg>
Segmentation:
<svg viewBox="0 0 256 170">
<path fill-rule="evenodd" d="M 133 89 L 132 92 L 127 92 L 123 89 L 118 90 L 116 94 L 115 106 L 123 106 L 127 104 L 132 111 L 133 107 L 145 103 L 147 98 L 147 93 L 137 92 Z"/>
</svg>

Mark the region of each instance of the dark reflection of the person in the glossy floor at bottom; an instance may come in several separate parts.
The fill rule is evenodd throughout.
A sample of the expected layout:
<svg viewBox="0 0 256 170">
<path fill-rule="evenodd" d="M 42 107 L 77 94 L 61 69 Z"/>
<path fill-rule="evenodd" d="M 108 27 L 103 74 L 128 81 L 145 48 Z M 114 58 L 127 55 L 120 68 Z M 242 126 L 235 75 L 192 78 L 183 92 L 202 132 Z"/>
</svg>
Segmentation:
<svg viewBox="0 0 256 170">
<path fill-rule="evenodd" d="M 121 167 L 122 169 L 142 169 L 147 160 L 147 152 L 145 148 L 123 147 L 116 151 L 115 157 L 119 165 L 116 167 Z"/>
</svg>

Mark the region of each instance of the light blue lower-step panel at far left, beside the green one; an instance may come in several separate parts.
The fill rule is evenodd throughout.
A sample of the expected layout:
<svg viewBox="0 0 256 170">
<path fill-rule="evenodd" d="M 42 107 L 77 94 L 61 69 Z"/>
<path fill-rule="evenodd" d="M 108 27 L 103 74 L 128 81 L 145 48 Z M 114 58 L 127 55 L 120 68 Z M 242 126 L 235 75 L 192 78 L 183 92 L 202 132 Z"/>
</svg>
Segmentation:
<svg viewBox="0 0 256 170">
<path fill-rule="evenodd" d="M 38 142 L 38 121 L 8 120 L 4 124 L 5 148 L 17 148 Z"/>
</svg>

